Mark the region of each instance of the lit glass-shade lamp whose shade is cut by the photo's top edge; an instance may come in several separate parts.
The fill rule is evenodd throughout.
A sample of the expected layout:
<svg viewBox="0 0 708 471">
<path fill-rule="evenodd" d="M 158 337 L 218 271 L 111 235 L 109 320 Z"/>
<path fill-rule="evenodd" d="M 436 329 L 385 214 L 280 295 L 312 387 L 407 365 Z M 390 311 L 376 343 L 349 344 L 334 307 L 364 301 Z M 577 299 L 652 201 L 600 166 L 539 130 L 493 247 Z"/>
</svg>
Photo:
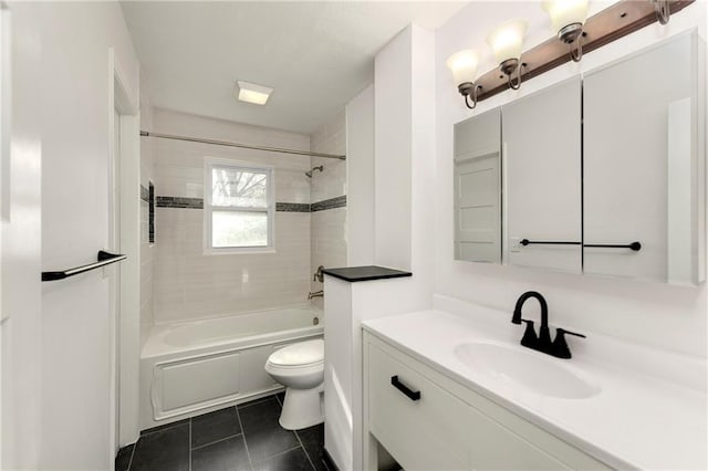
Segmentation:
<svg viewBox="0 0 708 471">
<path fill-rule="evenodd" d="M 543 10 L 551 17 L 558 39 L 570 48 L 573 62 L 583 57 L 583 24 L 587 19 L 587 0 L 544 0 Z"/>
</svg>

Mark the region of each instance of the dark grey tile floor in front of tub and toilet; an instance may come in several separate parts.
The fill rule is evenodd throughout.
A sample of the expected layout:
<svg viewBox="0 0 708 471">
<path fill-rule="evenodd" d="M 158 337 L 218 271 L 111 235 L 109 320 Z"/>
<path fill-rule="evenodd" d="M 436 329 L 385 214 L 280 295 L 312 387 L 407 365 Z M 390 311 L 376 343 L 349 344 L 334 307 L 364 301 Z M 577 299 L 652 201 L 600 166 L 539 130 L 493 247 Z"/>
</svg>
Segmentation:
<svg viewBox="0 0 708 471">
<path fill-rule="evenodd" d="M 140 432 L 116 471 L 329 471 L 324 426 L 284 430 L 282 394 Z"/>
</svg>

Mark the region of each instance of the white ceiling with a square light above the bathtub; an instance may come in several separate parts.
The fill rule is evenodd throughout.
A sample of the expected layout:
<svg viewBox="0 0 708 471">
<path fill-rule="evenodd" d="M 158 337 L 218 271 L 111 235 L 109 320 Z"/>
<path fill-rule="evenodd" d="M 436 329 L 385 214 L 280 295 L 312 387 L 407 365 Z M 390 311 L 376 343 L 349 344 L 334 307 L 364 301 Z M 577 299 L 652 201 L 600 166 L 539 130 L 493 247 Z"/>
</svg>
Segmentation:
<svg viewBox="0 0 708 471">
<path fill-rule="evenodd" d="M 435 30 L 465 3 L 121 1 L 154 106 L 305 134 L 373 83 L 374 55 L 408 23 Z M 237 80 L 274 92 L 238 102 Z"/>
</svg>

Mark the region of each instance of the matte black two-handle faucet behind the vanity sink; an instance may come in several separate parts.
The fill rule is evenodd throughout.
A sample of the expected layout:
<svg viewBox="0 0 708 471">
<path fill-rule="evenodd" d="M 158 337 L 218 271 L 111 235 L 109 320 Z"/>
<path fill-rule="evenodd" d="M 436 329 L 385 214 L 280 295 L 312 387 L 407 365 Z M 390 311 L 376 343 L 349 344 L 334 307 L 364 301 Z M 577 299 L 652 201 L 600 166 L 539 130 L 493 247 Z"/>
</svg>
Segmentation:
<svg viewBox="0 0 708 471">
<path fill-rule="evenodd" d="M 541 305 L 541 326 L 539 327 L 538 337 L 535 335 L 535 331 L 533 329 L 533 321 L 521 318 L 521 308 L 523 307 L 523 303 L 525 303 L 529 297 L 535 297 Z M 549 305 L 541 293 L 537 291 L 527 291 L 521 296 L 519 296 L 519 300 L 517 300 L 517 305 L 513 308 L 511 323 L 521 324 L 522 322 L 527 324 L 527 328 L 523 332 L 523 337 L 521 337 L 521 345 L 538 352 L 542 352 L 544 354 L 552 355 L 558 358 L 571 357 L 571 350 L 568 347 L 568 343 L 565 342 L 565 334 L 585 338 L 583 334 L 576 334 L 564 328 L 558 328 L 555 341 L 551 342 L 551 331 L 549 329 Z"/>
</svg>

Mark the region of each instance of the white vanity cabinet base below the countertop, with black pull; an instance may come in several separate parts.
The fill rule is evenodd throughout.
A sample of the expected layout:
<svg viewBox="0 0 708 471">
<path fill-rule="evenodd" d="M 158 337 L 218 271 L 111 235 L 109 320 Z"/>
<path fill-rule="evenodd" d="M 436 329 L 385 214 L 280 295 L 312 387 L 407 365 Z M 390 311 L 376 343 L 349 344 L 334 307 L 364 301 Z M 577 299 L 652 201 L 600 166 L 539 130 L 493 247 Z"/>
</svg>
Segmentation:
<svg viewBox="0 0 708 471">
<path fill-rule="evenodd" d="M 381 447 L 408 471 L 608 469 L 365 332 L 365 469 L 387 468 Z"/>
</svg>

